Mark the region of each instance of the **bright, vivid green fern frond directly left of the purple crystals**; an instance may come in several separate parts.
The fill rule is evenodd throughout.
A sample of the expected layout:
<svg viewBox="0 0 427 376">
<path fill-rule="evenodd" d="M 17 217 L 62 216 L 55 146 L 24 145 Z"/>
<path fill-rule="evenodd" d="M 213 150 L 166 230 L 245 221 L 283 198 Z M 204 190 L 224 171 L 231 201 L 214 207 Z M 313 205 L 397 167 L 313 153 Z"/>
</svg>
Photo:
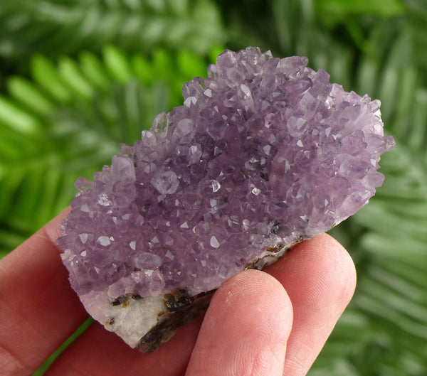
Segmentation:
<svg viewBox="0 0 427 376">
<path fill-rule="evenodd" d="M 68 205 L 78 176 L 91 178 L 120 143 L 133 144 L 159 112 L 181 104 L 189 72 L 203 75 L 207 63 L 189 52 L 157 49 L 148 59 L 112 45 L 101 58 L 35 55 L 32 79 L 11 77 L 9 97 L 0 97 L 0 227 L 31 235 Z M 22 239 L 1 236 L 0 249 Z"/>
</svg>

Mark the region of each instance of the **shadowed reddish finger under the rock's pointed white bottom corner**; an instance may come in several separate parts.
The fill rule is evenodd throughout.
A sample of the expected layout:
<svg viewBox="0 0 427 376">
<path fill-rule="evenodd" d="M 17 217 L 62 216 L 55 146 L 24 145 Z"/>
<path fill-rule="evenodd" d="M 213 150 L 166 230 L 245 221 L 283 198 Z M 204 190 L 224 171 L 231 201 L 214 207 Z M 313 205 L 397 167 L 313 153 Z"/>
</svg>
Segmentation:
<svg viewBox="0 0 427 376">
<path fill-rule="evenodd" d="M 179 328 L 151 354 L 130 348 L 115 333 L 93 323 L 53 362 L 44 376 L 183 376 L 201 319 Z"/>
</svg>

